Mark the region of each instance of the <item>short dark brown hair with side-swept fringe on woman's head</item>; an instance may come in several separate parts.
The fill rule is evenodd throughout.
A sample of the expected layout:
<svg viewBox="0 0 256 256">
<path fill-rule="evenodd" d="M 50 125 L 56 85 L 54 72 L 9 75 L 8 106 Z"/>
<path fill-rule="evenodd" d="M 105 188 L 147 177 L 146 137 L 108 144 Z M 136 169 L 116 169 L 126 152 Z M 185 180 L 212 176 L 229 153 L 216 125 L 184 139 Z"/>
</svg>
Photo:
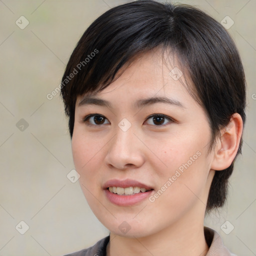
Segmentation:
<svg viewBox="0 0 256 256">
<path fill-rule="evenodd" d="M 70 56 L 62 77 L 61 95 L 71 137 L 77 96 L 101 91 L 118 78 L 116 73 L 125 63 L 155 47 L 170 48 L 187 70 L 196 100 L 209 120 L 210 148 L 233 113 L 239 113 L 245 122 L 244 71 L 236 46 L 222 25 L 189 5 L 138 0 L 99 16 L 85 30 Z M 242 139 L 237 154 L 241 153 L 241 144 Z M 215 172 L 207 211 L 224 204 L 232 171 L 233 162 Z"/>
</svg>

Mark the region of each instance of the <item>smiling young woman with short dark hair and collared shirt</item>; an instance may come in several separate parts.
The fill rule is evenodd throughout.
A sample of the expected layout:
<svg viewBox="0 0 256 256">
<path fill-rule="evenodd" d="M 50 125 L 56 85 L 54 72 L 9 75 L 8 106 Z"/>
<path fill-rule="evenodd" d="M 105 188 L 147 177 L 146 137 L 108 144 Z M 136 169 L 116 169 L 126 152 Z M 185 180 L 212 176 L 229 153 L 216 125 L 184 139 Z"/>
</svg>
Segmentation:
<svg viewBox="0 0 256 256">
<path fill-rule="evenodd" d="M 204 12 L 138 0 L 98 17 L 62 77 L 72 153 L 109 236 L 68 255 L 233 255 L 205 212 L 241 152 L 245 79 Z"/>
</svg>

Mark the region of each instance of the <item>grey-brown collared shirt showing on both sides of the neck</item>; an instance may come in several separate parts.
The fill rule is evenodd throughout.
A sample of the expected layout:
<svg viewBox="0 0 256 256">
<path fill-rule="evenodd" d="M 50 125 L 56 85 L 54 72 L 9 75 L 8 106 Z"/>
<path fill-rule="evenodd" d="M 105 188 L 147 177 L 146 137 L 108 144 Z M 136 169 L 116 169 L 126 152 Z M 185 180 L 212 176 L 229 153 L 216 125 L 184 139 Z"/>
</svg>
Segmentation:
<svg viewBox="0 0 256 256">
<path fill-rule="evenodd" d="M 221 237 L 215 230 L 205 226 L 204 237 L 209 247 L 206 256 L 236 256 L 224 246 Z M 79 250 L 71 254 L 66 254 L 65 256 L 105 256 L 106 245 L 108 241 L 109 235 L 99 240 L 93 246 L 87 249 Z"/>
</svg>

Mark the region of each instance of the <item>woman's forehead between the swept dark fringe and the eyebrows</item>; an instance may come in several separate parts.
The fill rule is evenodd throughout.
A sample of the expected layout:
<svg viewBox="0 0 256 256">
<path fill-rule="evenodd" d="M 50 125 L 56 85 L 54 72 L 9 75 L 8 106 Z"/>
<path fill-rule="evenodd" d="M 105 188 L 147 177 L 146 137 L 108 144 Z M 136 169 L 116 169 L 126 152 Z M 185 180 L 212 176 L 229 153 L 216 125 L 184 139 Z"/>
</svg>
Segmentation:
<svg viewBox="0 0 256 256">
<path fill-rule="evenodd" d="M 111 102 L 122 103 L 127 99 L 138 107 L 153 101 L 169 101 L 184 108 L 185 101 L 191 100 L 184 74 L 185 69 L 180 67 L 178 58 L 171 51 L 153 49 L 137 55 L 120 68 L 117 78 L 103 90 L 79 96 L 77 106 L 95 103 L 111 108 Z"/>
</svg>

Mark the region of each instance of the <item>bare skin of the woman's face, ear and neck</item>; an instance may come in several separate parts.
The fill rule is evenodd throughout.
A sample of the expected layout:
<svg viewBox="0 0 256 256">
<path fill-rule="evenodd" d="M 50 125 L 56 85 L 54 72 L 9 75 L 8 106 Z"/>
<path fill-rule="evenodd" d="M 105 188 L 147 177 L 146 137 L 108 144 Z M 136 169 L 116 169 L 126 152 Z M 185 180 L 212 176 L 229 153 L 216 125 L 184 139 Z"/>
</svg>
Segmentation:
<svg viewBox="0 0 256 256">
<path fill-rule="evenodd" d="M 203 220 L 210 183 L 215 170 L 232 162 L 242 121 L 234 114 L 208 153 L 211 132 L 206 113 L 181 84 L 184 75 L 178 80 L 169 75 L 174 67 L 170 62 L 163 64 L 158 50 L 134 60 L 95 95 L 110 101 L 113 108 L 79 106 L 82 97 L 77 97 L 73 160 L 89 206 L 110 231 L 107 255 L 202 256 L 208 251 Z M 137 99 L 151 96 L 178 100 L 183 107 L 162 102 L 134 107 Z M 93 117 L 82 121 L 92 113 L 105 117 L 102 124 L 96 124 Z M 148 118 L 151 114 L 164 114 L 173 121 L 164 119 L 157 125 Z M 131 123 L 127 131 L 118 126 L 123 118 Z M 113 178 L 135 179 L 156 192 L 198 151 L 200 156 L 153 202 L 145 199 L 132 206 L 117 206 L 105 196 L 103 184 Z M 123 221 L 130 227 L 126 233 L 118 228 Z"/>
</svg>

